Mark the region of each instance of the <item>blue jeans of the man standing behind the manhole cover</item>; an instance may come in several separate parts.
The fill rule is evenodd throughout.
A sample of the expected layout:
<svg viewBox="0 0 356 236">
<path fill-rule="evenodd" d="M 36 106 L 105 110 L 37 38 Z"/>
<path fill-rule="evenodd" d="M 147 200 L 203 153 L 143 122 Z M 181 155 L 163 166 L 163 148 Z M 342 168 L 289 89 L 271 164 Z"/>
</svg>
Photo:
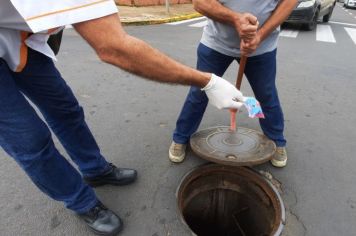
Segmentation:
<svg viewBox="0 0 356 236">
<path fill-rule="evenodd" d="M 263 133 L 278 147 L 284 147 L 284 118 L 276 88 L 277 49 L 247 59 L 245 75 L 251 88 L 261 103 L 265 119 L 259 119 Z M 233 60 L 238 58 L 221 54 L 203 44 L 198 46 L 197 69 L 222 76 Z M 208 98 L 198 87 L 191 87 L 173 133 L 173 141 L 180 144 L 189 142 L 203 118 Z"/>
</svg>

